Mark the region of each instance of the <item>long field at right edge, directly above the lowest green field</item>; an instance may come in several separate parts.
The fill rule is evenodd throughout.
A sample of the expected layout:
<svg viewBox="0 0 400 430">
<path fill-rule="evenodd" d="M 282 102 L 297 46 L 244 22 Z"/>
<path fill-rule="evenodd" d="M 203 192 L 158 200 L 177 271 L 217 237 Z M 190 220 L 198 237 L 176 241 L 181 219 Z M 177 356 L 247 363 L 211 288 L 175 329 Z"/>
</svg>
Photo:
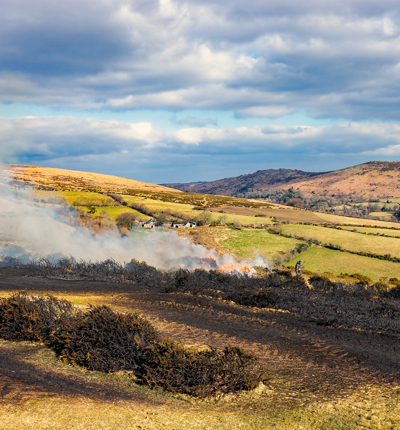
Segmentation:
<svg viewBox="0 0 400 430">
<path fill-rule="evenodd" d="M 315 237 L 323 244 L 333 243 L 350 251 L 391 254 L 400 257 L 400 240 L 391 237 L 367 236 L 349 230 L 337 230 L 313 225 L 285 225 L 285 233 L 300 237 Z M 390 231 L 390 230 L 388 230 Z"/>
</svg>

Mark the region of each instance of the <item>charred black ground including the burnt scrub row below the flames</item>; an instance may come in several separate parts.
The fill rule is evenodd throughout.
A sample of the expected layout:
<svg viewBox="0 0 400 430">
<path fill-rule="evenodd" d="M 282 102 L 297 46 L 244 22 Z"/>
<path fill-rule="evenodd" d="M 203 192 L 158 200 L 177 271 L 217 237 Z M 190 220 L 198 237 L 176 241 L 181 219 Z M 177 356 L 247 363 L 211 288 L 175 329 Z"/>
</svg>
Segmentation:
<svg viewBox="0 0 400 430">
<path fill-rule="evenodd" d="M 254 352 L 272 390 L 268 396 L 283 403 L 332 400 L 366 385 L 400 382 L 396 292 L 317 277 L 307 285 L 289 272 L 252 279 L 205 271 L 166 276 L 146 267 L 127 276 L 118 270 L 8 267 L 1 269 L 0 289 L 3 296 L 52 294 L 135 311 L 150 318 L 162 335 L 186 345 L 222 349 L 230 344 Z M 74 378 L 53 381 L 35 372 L 29 378 L 20 361 L 5 350 L 0 354 L 3 403 L 18 402 L 26 388 L 32 397 L 57 392 L 58 384 L 61 394 L 66 387 L 71 394 L 79 392 L 81 382 Z"/>
</svg>

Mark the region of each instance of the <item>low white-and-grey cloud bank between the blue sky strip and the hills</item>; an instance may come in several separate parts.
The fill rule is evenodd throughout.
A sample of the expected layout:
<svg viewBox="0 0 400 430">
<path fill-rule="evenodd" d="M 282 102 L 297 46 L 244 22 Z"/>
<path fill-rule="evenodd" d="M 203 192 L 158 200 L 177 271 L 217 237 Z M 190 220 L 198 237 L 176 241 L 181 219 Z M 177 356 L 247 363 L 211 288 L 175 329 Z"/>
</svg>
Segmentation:
<svg viewBox="0 0 400 430">
<path fill-rule="evenodd" d="M 396 159 L 400 125 L 191 127 L 167 133 L 151 123 L 26 117 L 0 120 L 0 142 L 16 143 L 13 157 L 5 158 L 9 162 L 129 173 L 148 182 L 162 182 L 167 172 L 172 182 L 188 180 L 199 168 L 203 177 L 218 179 L 239 173 L 243 164 L 255 170 L 276 163 L 274 167 L 320 171 L 340 168 L 344 161 L 351 165 L 359 160 Z M 288 154 L 295 161 L 288 161 Z"/>
</svg>

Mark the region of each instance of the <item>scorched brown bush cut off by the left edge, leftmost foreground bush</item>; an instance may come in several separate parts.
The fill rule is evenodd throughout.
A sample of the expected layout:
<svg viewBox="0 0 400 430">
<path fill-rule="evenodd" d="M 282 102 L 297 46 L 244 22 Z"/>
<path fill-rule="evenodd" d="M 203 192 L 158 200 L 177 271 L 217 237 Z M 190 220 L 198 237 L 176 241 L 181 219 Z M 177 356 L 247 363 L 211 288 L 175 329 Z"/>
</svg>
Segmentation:
<svg viewBox="0 0 400 430">
<path fill-rule="evenodd" d="M 72 304 L 66 300 L 13 294 L 0 299 L 0 338 L 44 341 L 72 313 Z"/>
</svg>

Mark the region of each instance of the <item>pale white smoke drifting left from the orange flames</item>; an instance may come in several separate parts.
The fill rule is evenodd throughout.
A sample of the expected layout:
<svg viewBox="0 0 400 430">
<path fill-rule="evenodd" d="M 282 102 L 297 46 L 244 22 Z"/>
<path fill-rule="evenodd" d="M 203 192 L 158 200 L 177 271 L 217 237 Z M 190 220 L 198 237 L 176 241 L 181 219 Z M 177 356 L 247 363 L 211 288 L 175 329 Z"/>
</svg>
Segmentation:
<svg viewBox="0 0 400 430">
<path fill-rule="evenodd" d="M 40 258 L 59 260 L 127 263 L 145 261 L 156 268 L 205 267 L 204 262 L 221 266 L 236 263 L 232 256 L 190 243 L 173 231 L 133 229 L 129 236 L 116 230 L 95 233 L 79 224 L 76 212 L 68 205 L 35 203 L 29 190 L 7 185 L 3 169 L 0 184 L 0 260 L 18 258 L 21 262 Z M 207 266 L 207 264 L 206 264 Z M 205 267 L 207 268 L 207 267 Z M 214 267 L 216 268 L 216 267 Z"/>
</svg>

